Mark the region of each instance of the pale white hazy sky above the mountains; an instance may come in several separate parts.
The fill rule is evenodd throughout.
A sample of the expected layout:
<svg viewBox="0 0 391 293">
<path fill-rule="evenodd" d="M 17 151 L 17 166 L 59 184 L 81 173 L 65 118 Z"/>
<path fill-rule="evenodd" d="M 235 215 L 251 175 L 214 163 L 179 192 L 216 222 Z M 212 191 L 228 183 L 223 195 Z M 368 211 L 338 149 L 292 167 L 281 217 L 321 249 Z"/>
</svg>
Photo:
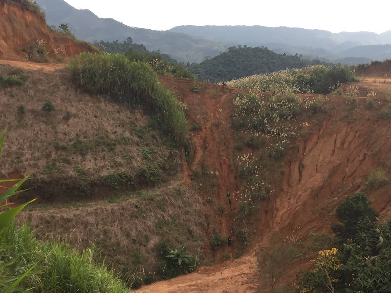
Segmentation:
<svg viewBox="0 0 391 293">
<path fill-rule="evenodd" d="M 131 27 L 167 30 L 178 25 L 264 25 L 331 32 L 391 30 L 391 1 L 362 0 L 66 0 L 101 18 Z"/>
</svg>

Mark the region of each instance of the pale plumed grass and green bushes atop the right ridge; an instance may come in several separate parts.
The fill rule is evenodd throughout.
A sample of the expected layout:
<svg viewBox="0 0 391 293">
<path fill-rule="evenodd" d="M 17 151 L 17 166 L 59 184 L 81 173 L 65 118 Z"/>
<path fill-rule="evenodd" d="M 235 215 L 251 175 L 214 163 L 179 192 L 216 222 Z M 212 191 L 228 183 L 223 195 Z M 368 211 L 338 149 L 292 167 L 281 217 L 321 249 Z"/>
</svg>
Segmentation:
<svg viewBox="0 0 391 293">
<path fill-rule="evenodd" d="M 355 80 L 353 68 L 349 66 L 324 65 L 303 69 L 283 70 L 275 73 L 251 75 L 227 82 L 228 86 L 248 89 L 257 93 L 269 91 L 272 95 L 287 93 L 328 94 L 341 83 Z"/>
</svg>

